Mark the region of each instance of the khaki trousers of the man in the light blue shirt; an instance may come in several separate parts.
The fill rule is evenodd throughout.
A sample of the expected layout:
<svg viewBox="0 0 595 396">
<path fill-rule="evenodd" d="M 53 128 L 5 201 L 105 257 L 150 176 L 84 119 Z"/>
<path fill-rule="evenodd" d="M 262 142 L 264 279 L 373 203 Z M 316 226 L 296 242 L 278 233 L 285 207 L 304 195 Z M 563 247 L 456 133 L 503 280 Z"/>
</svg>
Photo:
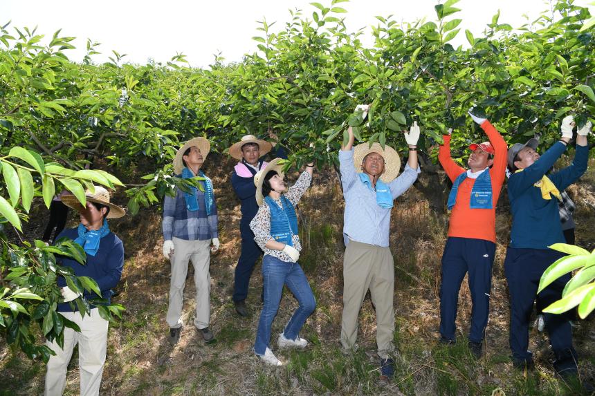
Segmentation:
<svg viewBox="0 0 595 396">
<path fill-rule="evenodd" d="M 358 314 L 369 289 L 376 308 L 378 355 L 386 358 L 394 350 L 394 264 L 390 249 L 349 241 L 343 259 L 343 281 L 343 348 L 349 350 L 356 344 Z"/>
</svg>

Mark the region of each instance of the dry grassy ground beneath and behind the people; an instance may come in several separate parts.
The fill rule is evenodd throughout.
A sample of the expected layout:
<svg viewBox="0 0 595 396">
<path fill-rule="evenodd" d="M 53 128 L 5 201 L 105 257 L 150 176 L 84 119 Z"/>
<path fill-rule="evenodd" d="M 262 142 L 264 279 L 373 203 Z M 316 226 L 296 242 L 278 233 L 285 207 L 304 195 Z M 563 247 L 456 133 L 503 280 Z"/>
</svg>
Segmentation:
<svg viewBox="0 0 595 396">
<path fill-rule="evenodd" d="M 594 169 L 593 164 L 590 169 Z M 448 215 L 430 205 L 420 191 L 433 189 L 440 176 L 421 178 L 397 200 L 392 213 L 390 247 L 394 254 L 396 285 L 394 341 L 400 355 L 390 383 L 378 380 L 375 355 L 376 324 L 369 298 L 360 312 L 356 354 L 339 350 L 342 311 L 343 200 L 334 175 L 316 174 L 311 191 L 300 203 L 302 244 L 300 262 L 309 277 L 318 308 L 300 334 L 310 342 L 304 351 L 275 352 L 286 364 L 268 368 L 253 355 L 262 287 L 257 265 L 250 283 L 248 306 L 252 316 L 235 314 L 231 301 L 233 270 L 239 256 L 239 202 L 232 193 L 230 162 L 221 171 L 207 169 L 217 187 L 221 249 L 211 260 L 212 319 L 217 343 L 205 345 L 192 326 L 195 289 L 190 269 L 185 288 L 181 340 L 166 341 L 169 263 L 161 256 L 161 216 L 156 208 L 143 209 L 134 218 L 115 220 L 112 229 L 125 242 L 126 263 L 114 301 L 127 308 L 124 319 L 109 330 L 107 364 L 102 395 L 576 395 L 580 384 L 566 384 L 551 366 L 547 337 L 531 330 L 536 370 L 520 373 L 509 361 L 509 307 L 504 279 L 505 246 L 498 245 L 493 268 L 491 316 L 484 356 L 475 361 L 466 346 L 470 295 L 464 282 L 459 298 L 457 337 L 452 347 L 437 343 L 439 326 L 440 257 L 446 241 Z M 295 180 L 295 175 L 289 176 Z M 595 247 L 595 172 L 571 187 L 577 203 L 577 243 Z M 439 191 L 438 191 L 439 192 Z M 120 200 L 120 202 L 125 202 Z M 509 210 L 505 194 L 497 210 L 500 243 L 508 238 Z M 39 209 L 39 217 L 44 216 Z M 73 220 L 73 219 L 71 219 Z M 74 220 L 73 220 L 74 221 Z M 31 223 L 39 235 L 43 222 Z M 273 335 L 282 331 L 297 304 L 284 293 Z M 593 316 L 593 315 L 592 315 Z M 576 349 L 582 379 L 595 381 L 593 317 L 577 321 Z M 274 337 L 273 337 L 274 338 Z M 273 345 L 274 345 L 274 339 Z M 0 395 L 40 395 L 44 366 L 6 348 L 0 341 Z M 77 357 L 68 368 L 66 395 L 78 393 Z M 502 393 L 497 393 L 501 391 Z"/>
</svg>

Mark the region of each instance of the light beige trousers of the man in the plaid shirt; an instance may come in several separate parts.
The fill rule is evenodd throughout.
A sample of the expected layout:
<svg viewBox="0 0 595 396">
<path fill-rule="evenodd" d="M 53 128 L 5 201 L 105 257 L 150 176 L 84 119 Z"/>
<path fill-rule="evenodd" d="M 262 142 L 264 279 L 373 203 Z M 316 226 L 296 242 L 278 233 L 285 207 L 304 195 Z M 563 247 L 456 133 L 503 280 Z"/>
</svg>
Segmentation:
<svg viewBox="0 0 595 396">
<path fill-rule="evenodd" d="M 209 326 L 211 316 L 211 276 L 209 264 L 211 258 L 211 240 L 185 241 L 173 238 L 174 254 L 172 263 L 172 279 L 170 281 L 170 303 L 167 308 L 167 324 L 170 328 L 182 326 L 182 304 L 184 286 L 188 273 L 188 261 L 194 265 L 194 284 L 196 285 L 196 317 L 194 326 L 202 329 Z"/>
</svg>

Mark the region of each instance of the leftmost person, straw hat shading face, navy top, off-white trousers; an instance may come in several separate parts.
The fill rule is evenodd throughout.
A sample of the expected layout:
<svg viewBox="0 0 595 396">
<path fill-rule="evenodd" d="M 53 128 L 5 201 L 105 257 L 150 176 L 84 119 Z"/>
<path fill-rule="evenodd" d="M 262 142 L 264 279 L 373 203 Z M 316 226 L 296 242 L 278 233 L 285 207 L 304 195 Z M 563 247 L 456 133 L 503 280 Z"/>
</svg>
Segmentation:
<svg viewBox="0 0 595 396">
<path fill-rule="evenodd" d="M 110 301 L 111 289 L 116 287 L 122 276 L 124 247 L 120 238 L 110 231 L 107 219 L 120 218 L 125 211 L 109 201 L 109 192 L 103 187 L 95 186 L 95 191 L 86 191 L 85 196 L 86 206 L 82 206 L 73 195 L 62 196 L 64 205 L 79 212 L 80 224 L 76 228 L 62 231 L 56 241 L 68 238 L 81 245 L 86 253 L 86 262 L 83 265 L 73 258 L 58 256 L 57 263 L 71 268 L 75 276 L 89 276 L 97 283 L 101 296 L 85 291 L 85 299 L 100 298 Z M 82 296 L 66 285 L 63 276 L 58 278 L 57 285 L 61 287 L 60 292 L 64 299 L 58 304 L 57 311 L 62 317 L 76 323 L 80 332 L 64 328 L 62 348 L 56 340 L 46 343 L 56 355 L 51 356 L 48 361 L 45 394 L 62 395 L 64 392 L 68 362 L 73 348 L 78 344 L 80 394 L 99 395 L 107 351 L 108 321 L 100 316 L 98 308 L 93 305 L 90 305 L 90 314 L 83 317 L 73 303 Z"/>
</svg>

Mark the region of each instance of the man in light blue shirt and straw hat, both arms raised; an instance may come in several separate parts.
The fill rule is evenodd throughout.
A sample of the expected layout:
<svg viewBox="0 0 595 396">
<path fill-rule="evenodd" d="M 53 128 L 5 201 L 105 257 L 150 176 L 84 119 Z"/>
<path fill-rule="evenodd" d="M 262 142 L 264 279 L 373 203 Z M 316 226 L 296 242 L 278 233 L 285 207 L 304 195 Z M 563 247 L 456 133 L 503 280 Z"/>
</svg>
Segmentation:
<svg viewBox="0 0 595 396">
<path fill-rule="evenodd" d="M 364 117 L 367 112 L 365 106 Z M 399 155 L 391 147 L 374 143 L 359 144 L 355 149 L 354 133 L 339 151 L 341 183 L 345 197 L 345 257 L 343 259 L 343 314 L 341 344 L 343 350 L 355 350 L 358 314 L 370 290 L 376 307 L 376 343 L 381 357 L 381 376 L 394 375 L 394 263 L 388 247 L 390 212 L 393 200 L 403 194 L 417 179 L 417 123 L 405 133 L 409 158 L 399 175 Z"/>
</svg>

